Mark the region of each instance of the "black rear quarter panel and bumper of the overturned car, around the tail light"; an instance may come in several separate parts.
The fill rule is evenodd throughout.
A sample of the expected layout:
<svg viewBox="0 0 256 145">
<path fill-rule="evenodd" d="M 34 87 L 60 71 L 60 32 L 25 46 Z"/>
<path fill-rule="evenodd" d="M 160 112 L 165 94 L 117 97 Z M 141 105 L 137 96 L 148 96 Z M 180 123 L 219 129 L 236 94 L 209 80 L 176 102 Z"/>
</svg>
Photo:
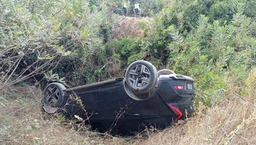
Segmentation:
<svg viewBox="0 0 256 145">
<path fill-rule="evenodd" d="M 173 82 L 175 81 L 175 82 Z M 142 120 L 146 124 L 163 128 L 166 125 L 173 122 L 176 118 L 176 114 L 167 104 L 176 105 L 183 114 L 193 112 L 191 99 L 194 94 L 194 90 L 180 90 L 176 91 L 172 87 L 172 83 L 177 85 L 184 83 L 180 80 L 161 80 L 158 83 L 156 92 L 145 100 L 137 100 L 136 104 L 142 114 Z"/>
</svg>

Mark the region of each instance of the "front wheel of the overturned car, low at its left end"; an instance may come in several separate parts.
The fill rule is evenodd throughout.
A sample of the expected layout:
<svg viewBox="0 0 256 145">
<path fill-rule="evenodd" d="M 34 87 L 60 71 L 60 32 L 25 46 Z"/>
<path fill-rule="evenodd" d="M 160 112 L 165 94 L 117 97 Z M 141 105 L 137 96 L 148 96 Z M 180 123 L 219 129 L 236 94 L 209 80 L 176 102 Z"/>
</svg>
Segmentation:
<svg viewBox="0 0 256 145">
<path fill-rule="evenodd" d="M 44 90 L 43 102 L 47 106 L 59 107 L 62 99 L 65 86 L 60 83 L 51 83 Z"/>
</svg>

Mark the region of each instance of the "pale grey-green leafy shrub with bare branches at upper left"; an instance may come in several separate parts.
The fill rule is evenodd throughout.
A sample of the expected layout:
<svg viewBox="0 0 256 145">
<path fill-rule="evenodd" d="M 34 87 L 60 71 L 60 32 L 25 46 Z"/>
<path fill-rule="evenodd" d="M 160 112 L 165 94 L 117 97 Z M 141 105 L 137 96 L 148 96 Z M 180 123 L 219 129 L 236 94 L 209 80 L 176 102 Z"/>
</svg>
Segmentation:
<svg viewBox="0 0 256 145">
<path fill-rule="evenodd" d="M 89 58 L 94 64 L 99 60 L 94 52 L 104 49 L 115 20 L 108 1 L 1 0 L 0 7 L 0 81 L 4 85 L 42 79 L 38 74 L 53 69 L 67 75 L 68 66 L 71 72 L 77 68 L 71 66 L 73 59 L 83 64 Z"/>
</svg>

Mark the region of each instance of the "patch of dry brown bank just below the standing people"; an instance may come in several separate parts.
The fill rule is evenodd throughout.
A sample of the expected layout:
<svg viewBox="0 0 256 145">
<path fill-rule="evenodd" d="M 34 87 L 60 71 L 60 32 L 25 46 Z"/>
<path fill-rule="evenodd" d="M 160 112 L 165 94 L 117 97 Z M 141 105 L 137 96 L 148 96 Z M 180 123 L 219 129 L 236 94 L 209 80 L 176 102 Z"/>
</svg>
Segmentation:
<svg viewBox="0 0 256 145">
<path fill-rule="evenodd" d="M 111 29 L 112 38 L 120 40 L 125 36 L 128 36 L 129 38 L 144 37 L 144 30 L 138 26 L 138 23 L 144 21 L 148 24 L 148 29 L 150 29 L 150 20 L 153 20 L 148 17 L 126 17 L 125 19 L 122 19 L 123 18 L 120 17 L 118 21 L 121 21 Z"/>
</svg>

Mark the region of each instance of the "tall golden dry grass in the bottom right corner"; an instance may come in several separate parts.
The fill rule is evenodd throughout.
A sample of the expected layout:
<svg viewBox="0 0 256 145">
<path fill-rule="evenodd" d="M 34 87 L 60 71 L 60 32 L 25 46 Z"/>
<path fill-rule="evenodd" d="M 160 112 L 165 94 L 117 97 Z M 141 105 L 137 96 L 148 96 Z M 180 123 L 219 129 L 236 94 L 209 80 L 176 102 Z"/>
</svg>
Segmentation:
<svg viewBox="0 0 256 145">
<path fill-rule="evenodd" d="M 136 144 L 256 144 L 255 79 L 256 69 L 249 75 L 242 97 L 230 93 L 218 105 L 199 105 L 199 112 L 186 124 L 149 134 Z"/>
</svg>

